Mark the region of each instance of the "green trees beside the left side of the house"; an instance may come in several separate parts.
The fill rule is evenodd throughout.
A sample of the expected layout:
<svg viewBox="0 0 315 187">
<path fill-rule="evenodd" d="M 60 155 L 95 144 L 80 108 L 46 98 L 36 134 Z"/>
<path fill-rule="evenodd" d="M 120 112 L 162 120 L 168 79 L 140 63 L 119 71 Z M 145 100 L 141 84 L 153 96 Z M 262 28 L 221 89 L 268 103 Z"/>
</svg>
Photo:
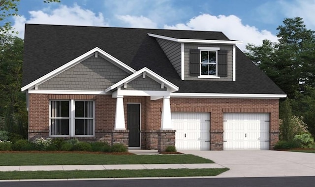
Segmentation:
<svg viewBox="0 0 315 187">
<path fill-rule="evenodd" d="M 21 93 L 23 44 L 21 38 L 6 35 L 0 41 L 0 118 L 3 128 L 25 135 L 27 111 Z"/>
</svg>

